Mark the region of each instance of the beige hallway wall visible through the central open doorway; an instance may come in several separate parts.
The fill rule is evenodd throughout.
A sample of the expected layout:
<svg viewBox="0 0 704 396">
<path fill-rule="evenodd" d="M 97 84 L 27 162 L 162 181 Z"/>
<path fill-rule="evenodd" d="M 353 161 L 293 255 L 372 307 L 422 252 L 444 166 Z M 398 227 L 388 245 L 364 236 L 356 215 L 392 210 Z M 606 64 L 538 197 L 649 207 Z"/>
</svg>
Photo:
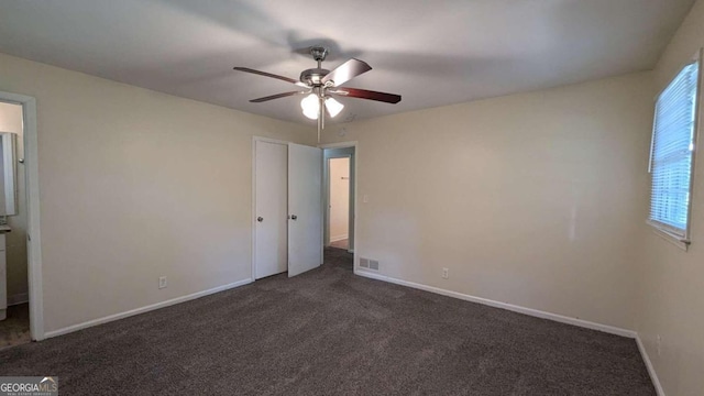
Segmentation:
<svg viewBox="0 0 704 396">
<path fill-rule="evenodd" d="M 350 158 L 330 158 L 330 240 L 349 235 Z"/>
</svg>

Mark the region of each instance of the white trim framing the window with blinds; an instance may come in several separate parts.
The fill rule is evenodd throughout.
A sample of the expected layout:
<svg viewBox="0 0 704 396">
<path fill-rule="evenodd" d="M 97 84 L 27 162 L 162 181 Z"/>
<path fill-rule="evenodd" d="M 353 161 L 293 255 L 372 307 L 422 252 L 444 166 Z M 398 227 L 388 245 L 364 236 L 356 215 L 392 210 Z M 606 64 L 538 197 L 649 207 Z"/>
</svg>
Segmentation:
<svg viewBox="0 0 704 396">
<path fill-rule="evenodd" d="M 680 72 L 686 67 L 686 65 L 690 65 L 692 62 L 698 62 L 700 63 L 700 67 L 698 67 L 698 76 L 697 76 L 697 89 L 696 89 L 696 109 L 695 111 L 695 116 L 694 116 L 694 136 L 692 138 L 692 144 L 694 146 L 694 150 L 692 150 L 692 164 L 691 164 L 691 170 L 690 170 L 690 201 L 688 202 L 688 211 L 686 211 L 686 228 L 684 230 L 684 237 L 680 235 L 679 233 L 673 232 L 669 226 L 663 224 L 659 221 L 654 221 L 654 220 L 650 220 L 648 219 L 646 222 L 648 224 L 650 224 L 652 227 L 652 231 L 660 238 L 662 238 L 663 240 L 674 244 L 675 246 L 684 250 L 685 252 L 688 251 L 690 244 L 692 243 L 690 237 L 691 237 L 691 230 L 692 230 L 692 202 L 694 201 L 694 197 L 695 197 L 695 191 L 694 191 L 694 180 L 696 179 L 696 152 L 698 151 L 698 136 L 700 136 L 700 125 L 702 125 L 702 88 L 704 88 L 704 79 L 703 79 L 703 75 L 704 73 L 702 72 L 702 69 L 704 68 L 704 64 L 702 63 L 703 59 L 703 51 L 702 48 L 700 48 L 696 54 L 694 54 L 694 56 L 692 56 L 685 64 L 681 65 L 681 67 L 679 67 L 674 74 L 674 76 L 672 78 L 670 78 L 668 80 L 668 84 L 660 90 L 660 92 L 658 92 L 658 95 L 656 95 L 656 103 L 658 102 L 658 99 L 660 98 L 660 96 L 662 95 L 662 92 L 668 89 L 668 86 L 670 85 L 670 81 L 672 81 L 674 78 L 676 78 L 678 74 L 680 74 Z M 656 123 L 654 123 L 654 111 L 653 111 L 653 122 L 652 122 L 652 133 L 651 133 L 651 142 L 650 142 L 650 157 L 649 157 L 649 163 L 648 163 L 648 173 L 650 173 L 651 170 L 651 165 L 652 165 L 652 150 L 653 150 L 653 145 L 654 145 L 654 128 L 656 128 Z M 652 182 L 651 182 L 652 183 Z M 650 199 L 652 199 L 652 197 L 649 197 Z"/>
</svg>

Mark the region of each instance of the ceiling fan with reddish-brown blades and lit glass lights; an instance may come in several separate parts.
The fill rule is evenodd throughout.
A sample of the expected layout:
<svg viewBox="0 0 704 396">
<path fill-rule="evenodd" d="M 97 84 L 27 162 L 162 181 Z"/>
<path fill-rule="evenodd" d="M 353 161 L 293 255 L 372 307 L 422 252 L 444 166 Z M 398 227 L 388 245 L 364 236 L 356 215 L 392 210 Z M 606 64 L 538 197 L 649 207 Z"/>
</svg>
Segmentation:
<svg viewBox="0 0 704 396">
<path fill-rule="evenodd" d="M 300 107 L 302 108 L 306 117 L 311 120 L 318 120 L 318 143 L 320 143 L 320 131 L 324 128 L 326 110 L 330 117 L 336 117 L 340 111 L 342 111 L 342 108 L 344 108 L 344 106 L 337 101 L 333 96 L 376 100 L 386 103 L 398 103 L 400 101 L 400 95 L 341 87 L 352 78 L 372 69 L 372 66 L 367 65 L 365 62 L 352 58 L 330 72 L 322 68 L 322 62 L 328 55 L 328 48 L 314 46 L 310 48 L 310 55 L 318 63 L 318 67 L 301 72 L 299 80 L 255 70 L 249 67 L 234 67 L 234 69 L 280 79 L 304 88 L 302 90 L 276 94 L 252 99 L 250 101 L 253 103 L 261 103 L 267 100 L 289 96 L 306 95 L 306 97 L 300 101 Z"/>
</svg>

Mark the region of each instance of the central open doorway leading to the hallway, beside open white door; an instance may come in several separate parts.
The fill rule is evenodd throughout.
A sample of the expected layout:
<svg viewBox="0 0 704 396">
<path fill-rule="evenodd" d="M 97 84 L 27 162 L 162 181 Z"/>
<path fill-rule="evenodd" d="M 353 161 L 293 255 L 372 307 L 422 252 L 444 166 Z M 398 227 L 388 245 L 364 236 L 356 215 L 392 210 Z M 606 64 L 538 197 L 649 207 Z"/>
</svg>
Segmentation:
<svg viewBox="0 0 704 396">
<path fill-rule="evenodd" d="M 326 248 L 353 252 L 355 147 L 327 147 L 323 158 L 323 242 Z"/>
</svg>

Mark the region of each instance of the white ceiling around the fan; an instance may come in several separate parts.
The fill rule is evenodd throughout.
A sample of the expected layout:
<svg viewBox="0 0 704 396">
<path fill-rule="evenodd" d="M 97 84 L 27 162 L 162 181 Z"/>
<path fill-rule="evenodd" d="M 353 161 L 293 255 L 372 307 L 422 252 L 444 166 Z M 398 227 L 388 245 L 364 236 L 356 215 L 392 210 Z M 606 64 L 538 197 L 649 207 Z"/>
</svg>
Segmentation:
<svg viewBox="0 0 704 396">
<path fill-rule="evenodd" d="M 694 0 L 0 0 L 0 52 L 252 113 L 311 123 L 295 90 L 232 70 L 298 78 L 305 48 L 346 86 L 398 105 L 340 99 L 372 118 L 650 69 Z M 294 88 L 294 89 L 292 89 Z"/>
</svg>

